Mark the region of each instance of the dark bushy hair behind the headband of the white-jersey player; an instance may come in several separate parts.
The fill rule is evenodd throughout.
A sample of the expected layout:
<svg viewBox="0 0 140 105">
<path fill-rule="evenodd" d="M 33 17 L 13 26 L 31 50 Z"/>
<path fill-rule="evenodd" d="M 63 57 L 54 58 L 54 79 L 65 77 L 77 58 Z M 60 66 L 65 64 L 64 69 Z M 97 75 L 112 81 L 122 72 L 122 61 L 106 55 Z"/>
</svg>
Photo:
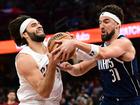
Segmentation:
<svg viewBox="0 0 140 105">
<path fill-rule="evenodd" d="M 18 46 L 28 44 L 26 39 L 24 37 L 21 37 L 20 35 L 20 26 L 28 18 L 31 18 L 31 17 L 27 15 L 21 15 L 17 17 L 16 19 L 12 20 L 8 25 L 11 38 L 15 41 L 15 43 Z"/>
</svg>

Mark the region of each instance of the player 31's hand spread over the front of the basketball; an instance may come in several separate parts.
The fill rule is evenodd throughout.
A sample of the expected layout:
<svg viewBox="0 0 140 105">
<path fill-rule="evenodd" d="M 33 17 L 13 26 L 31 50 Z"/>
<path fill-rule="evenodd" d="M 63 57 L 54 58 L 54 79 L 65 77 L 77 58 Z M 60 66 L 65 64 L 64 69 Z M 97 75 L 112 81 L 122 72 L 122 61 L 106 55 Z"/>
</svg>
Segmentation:
<svg viewBox="0 0 140 105">
<path fill-rule="evenodd" d="M 55 43 L 61 44 L 58 48 L 52 51 L 52 54 L 58 53 L 62 56 L 61 61 L 67 61 L 70 54 L 76 49 L 75 40 L 56 40 Z"/>
</svg>

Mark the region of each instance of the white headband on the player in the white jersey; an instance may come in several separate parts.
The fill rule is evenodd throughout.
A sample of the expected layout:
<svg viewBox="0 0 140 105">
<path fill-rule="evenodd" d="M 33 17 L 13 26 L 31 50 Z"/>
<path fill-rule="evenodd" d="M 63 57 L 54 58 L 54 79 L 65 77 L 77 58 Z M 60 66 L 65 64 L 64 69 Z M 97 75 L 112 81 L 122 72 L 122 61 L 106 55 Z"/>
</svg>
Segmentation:
<svg viewBox="0 0 140 105">
<path fill-rule="evenodd" d="M 33 18 L 28 18 L 26 19 L 25 21 L 23 21 L 23 23 L 20 25 L 20 29 L 19 29 L 19 32 L 20 32 L 20 36 L 22 36 L 23 32 L 25 31 L 25 29 L 27 28 L 28 24 L 32 21 L 32 20 L 35 20 Z"/>
</svg>

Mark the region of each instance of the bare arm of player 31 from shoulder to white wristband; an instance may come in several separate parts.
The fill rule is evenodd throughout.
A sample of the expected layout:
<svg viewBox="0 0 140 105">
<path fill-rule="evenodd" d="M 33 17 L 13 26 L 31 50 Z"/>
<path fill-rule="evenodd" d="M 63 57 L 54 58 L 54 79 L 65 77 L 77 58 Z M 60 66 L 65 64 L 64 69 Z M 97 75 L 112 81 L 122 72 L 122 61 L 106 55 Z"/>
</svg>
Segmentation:
<svg viewBox="0 0 140 105">
<path fill-rule="evenodd" d="M 101 47 L 100 53 L 101 58 L 120 58 L 124 61 L 131 61 L 135 57 L 135 49 L 127 38 L 121 38 L 115 40 L 107 47 Z"/>
</svg>

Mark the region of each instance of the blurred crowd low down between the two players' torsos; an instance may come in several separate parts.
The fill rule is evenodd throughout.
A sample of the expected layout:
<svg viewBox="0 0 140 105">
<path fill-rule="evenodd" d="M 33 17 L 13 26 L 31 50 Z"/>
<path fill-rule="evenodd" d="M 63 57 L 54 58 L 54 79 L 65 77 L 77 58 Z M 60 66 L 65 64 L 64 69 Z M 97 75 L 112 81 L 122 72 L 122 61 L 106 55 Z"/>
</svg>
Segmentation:
<svg viewBox="0 0 140 105">
<path fill-rule="evenodd" d="M 99 105 L 102 87 L 96 70 L 91 70 L 81 77 L 71 77 L 65 74 L 63 83 L 61 105 Z"/>
</svg>

